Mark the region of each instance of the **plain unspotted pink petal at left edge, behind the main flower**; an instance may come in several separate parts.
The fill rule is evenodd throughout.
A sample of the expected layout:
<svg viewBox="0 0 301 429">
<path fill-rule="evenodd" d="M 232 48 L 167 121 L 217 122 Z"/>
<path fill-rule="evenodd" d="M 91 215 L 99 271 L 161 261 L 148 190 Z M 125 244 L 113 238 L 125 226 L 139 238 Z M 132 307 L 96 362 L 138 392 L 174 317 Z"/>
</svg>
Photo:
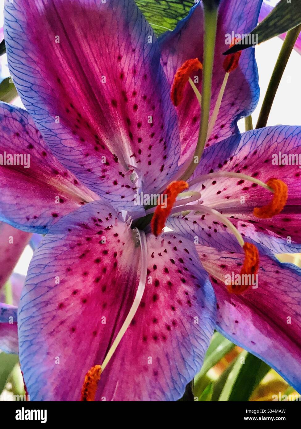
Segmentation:
<svg viewBox="0 0 301 429">
<path fill-rule="evenodd" d="M 0 222 L 0 293 L 30 237 L 31 234 L 16 230 L 14 227 Z"/>
</svg>

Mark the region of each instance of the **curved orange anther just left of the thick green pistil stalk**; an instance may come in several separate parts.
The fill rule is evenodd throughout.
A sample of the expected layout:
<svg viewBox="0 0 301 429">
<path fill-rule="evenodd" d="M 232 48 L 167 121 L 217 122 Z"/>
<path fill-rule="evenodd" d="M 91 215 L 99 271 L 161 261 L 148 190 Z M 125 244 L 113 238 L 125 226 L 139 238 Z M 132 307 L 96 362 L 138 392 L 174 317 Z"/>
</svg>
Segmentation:
<svg viewBox="0 0 301 429">
<path fill-rule="evenodd" d="M 181 103 L 183 91 L 191 73 L 201 69 L 203 69 L 203 66 L 198 58 L 185 61 L 185 63 L 177 69 L 170 92 L 171 101 L 174 106 L 178 106 Z"/>
</svg>

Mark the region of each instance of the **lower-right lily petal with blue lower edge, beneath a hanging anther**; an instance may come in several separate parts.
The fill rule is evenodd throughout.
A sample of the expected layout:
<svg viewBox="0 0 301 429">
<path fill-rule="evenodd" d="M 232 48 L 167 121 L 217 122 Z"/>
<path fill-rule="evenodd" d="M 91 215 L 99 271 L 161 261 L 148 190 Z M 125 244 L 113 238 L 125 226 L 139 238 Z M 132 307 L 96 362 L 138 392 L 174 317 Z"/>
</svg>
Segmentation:
<svg viewBox="0 0 301 429">
<path fill-rule="evenodd" d="M 216 329 L 274 368 L 301 391 L 301 269 L 261 255 L 258 288 L 227 292 L 225 275 L 239 272 L 242 254 L 197 246 L 217 301 Z"/>
</svg>

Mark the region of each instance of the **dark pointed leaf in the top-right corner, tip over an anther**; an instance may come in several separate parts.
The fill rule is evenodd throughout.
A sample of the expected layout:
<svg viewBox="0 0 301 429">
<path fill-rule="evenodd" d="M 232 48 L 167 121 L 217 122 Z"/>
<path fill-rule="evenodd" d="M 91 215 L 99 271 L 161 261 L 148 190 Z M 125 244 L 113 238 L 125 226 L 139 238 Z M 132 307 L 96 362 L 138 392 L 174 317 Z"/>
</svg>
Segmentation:
<svg viewBox="0 0 301 429">
<path fill-rule="evenodd" d="M 272 12 L 251 33 L 246 35 L 240 43 L 225 51 L 224 55 L 249 48 L 254 45 L 253 42 L 255 44 L 265 42 L 274 36 L 286 33 L 299 24 L 301 24 L 301 1 L 280 0 Z"/>
</svg>

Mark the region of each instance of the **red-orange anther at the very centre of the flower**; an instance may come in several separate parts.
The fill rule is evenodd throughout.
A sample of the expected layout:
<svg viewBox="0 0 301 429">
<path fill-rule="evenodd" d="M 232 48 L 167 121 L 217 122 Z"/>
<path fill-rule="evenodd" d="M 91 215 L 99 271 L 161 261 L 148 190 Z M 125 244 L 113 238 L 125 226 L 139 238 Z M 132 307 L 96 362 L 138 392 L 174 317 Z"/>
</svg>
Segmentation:
<svg viewBox="0 0 301 429">
<path fill-rule="evenodd" d="M 158 237 L 165 226 L 166 219 L 168 218 L 170 211 L 173 207 L 176 197 L 180 192 L 188 188 L 188 183 L 184 180 L 171 182 L 164 190 L 163 195 L 167 197 L 166 208 L 163 205 L 156 207 L 155 213 L 152 217 L 151 228 L 154 236 Z"/>
</svg>

